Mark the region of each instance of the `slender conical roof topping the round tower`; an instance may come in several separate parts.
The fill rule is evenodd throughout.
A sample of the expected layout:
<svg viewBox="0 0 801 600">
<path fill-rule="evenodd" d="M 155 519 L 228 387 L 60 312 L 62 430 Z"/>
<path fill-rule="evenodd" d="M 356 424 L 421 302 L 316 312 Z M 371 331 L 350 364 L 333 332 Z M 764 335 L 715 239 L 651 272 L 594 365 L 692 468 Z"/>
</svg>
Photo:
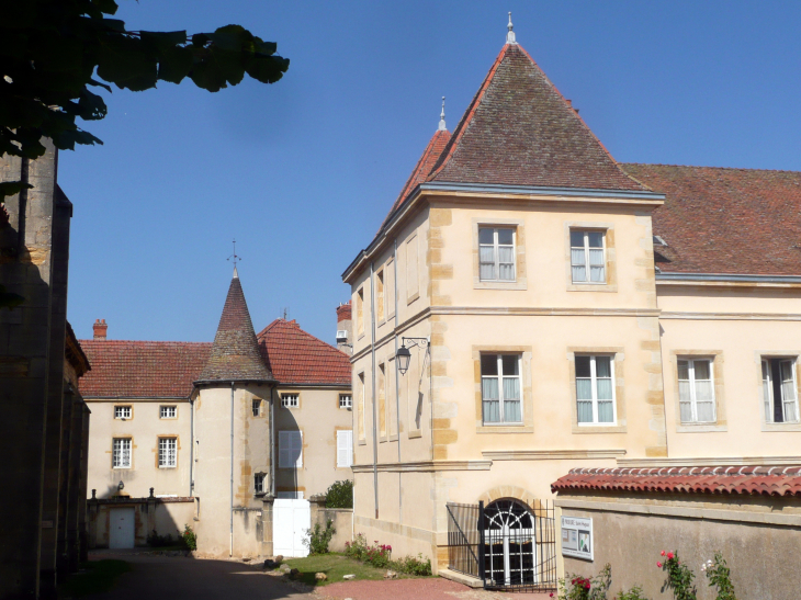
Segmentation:
<svg viewBox="0 0 801 600">
<path fill-rule="evenodd" d="M 199 382 L 272 382 L 256 341 L 239 275 L 234 269 L 212 353 Z"/>
</svg>

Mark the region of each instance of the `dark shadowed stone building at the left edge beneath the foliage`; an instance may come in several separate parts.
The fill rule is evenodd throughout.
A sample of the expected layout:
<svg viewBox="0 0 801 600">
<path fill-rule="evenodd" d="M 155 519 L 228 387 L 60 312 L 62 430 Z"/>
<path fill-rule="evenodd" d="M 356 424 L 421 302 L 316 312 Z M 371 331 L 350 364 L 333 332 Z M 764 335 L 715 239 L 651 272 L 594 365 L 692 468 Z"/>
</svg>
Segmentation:
<svg viewBox="0 0 801 600">
<path fill-rule="evenodd" d="M 86 551 L 89 411 L 78 381 L 89 363 L 67 322 L 72 204 L 58 186 L 58 152 L 45 146 L 36 160 L 0 158 L 0 180 L 31 185 L 0 212 L 0 295 L 23 298 L 0 308 L 2 480 L 16 490 L 0 517 L 0 598 L 55 597 Z"/>
</svg>

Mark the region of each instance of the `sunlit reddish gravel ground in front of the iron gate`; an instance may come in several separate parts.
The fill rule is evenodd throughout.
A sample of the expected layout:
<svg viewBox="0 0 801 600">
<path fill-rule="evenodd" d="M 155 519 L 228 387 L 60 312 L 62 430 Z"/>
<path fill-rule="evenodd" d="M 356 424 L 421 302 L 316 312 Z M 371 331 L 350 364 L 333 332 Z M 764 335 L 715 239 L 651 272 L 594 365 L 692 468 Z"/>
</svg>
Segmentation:
<svg viewBox="0 0 801 600">
<path fill-rule="evenodd" d="M 500 593 L 442 578 L 342 581 L 317 588 L 315 595 L 331 600 L 550 600 L 548 593 Z"/>
</svg>

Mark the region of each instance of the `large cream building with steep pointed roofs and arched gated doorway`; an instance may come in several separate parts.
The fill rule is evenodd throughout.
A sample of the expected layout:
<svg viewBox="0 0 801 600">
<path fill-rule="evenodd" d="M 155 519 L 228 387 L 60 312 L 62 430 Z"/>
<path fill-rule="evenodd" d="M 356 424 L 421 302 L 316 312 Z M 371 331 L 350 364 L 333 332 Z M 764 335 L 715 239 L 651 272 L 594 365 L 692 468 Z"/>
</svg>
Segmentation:
<svg viewBox="0 0 801 600">
<path fill-rule="evenodd" d="M 342 275 L 356 531 L 553 588 L 571 469 L 801 464 L 799 206 L 801 173 L 618 163 L 510 23 Z"/>
</svg>

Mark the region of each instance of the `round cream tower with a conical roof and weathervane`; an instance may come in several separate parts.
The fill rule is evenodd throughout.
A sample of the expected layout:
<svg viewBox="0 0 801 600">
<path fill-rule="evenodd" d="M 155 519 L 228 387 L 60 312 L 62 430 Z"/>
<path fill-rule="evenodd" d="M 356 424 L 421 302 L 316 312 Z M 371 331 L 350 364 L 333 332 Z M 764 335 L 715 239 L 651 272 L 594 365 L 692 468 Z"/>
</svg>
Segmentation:
<svg viewBox="0 0 801 600">
<path fill-rule="evenodd" d="M 236 268 L 193 400 L 198 550 L 214 556 L 261 550 L 259 494 L 270 490 L 275 381 L 259 352 Z M 259 488 L 256 487 L 259 476 Z M 179 523 L 179 527 L 182 523 Z"/>
</svg>

